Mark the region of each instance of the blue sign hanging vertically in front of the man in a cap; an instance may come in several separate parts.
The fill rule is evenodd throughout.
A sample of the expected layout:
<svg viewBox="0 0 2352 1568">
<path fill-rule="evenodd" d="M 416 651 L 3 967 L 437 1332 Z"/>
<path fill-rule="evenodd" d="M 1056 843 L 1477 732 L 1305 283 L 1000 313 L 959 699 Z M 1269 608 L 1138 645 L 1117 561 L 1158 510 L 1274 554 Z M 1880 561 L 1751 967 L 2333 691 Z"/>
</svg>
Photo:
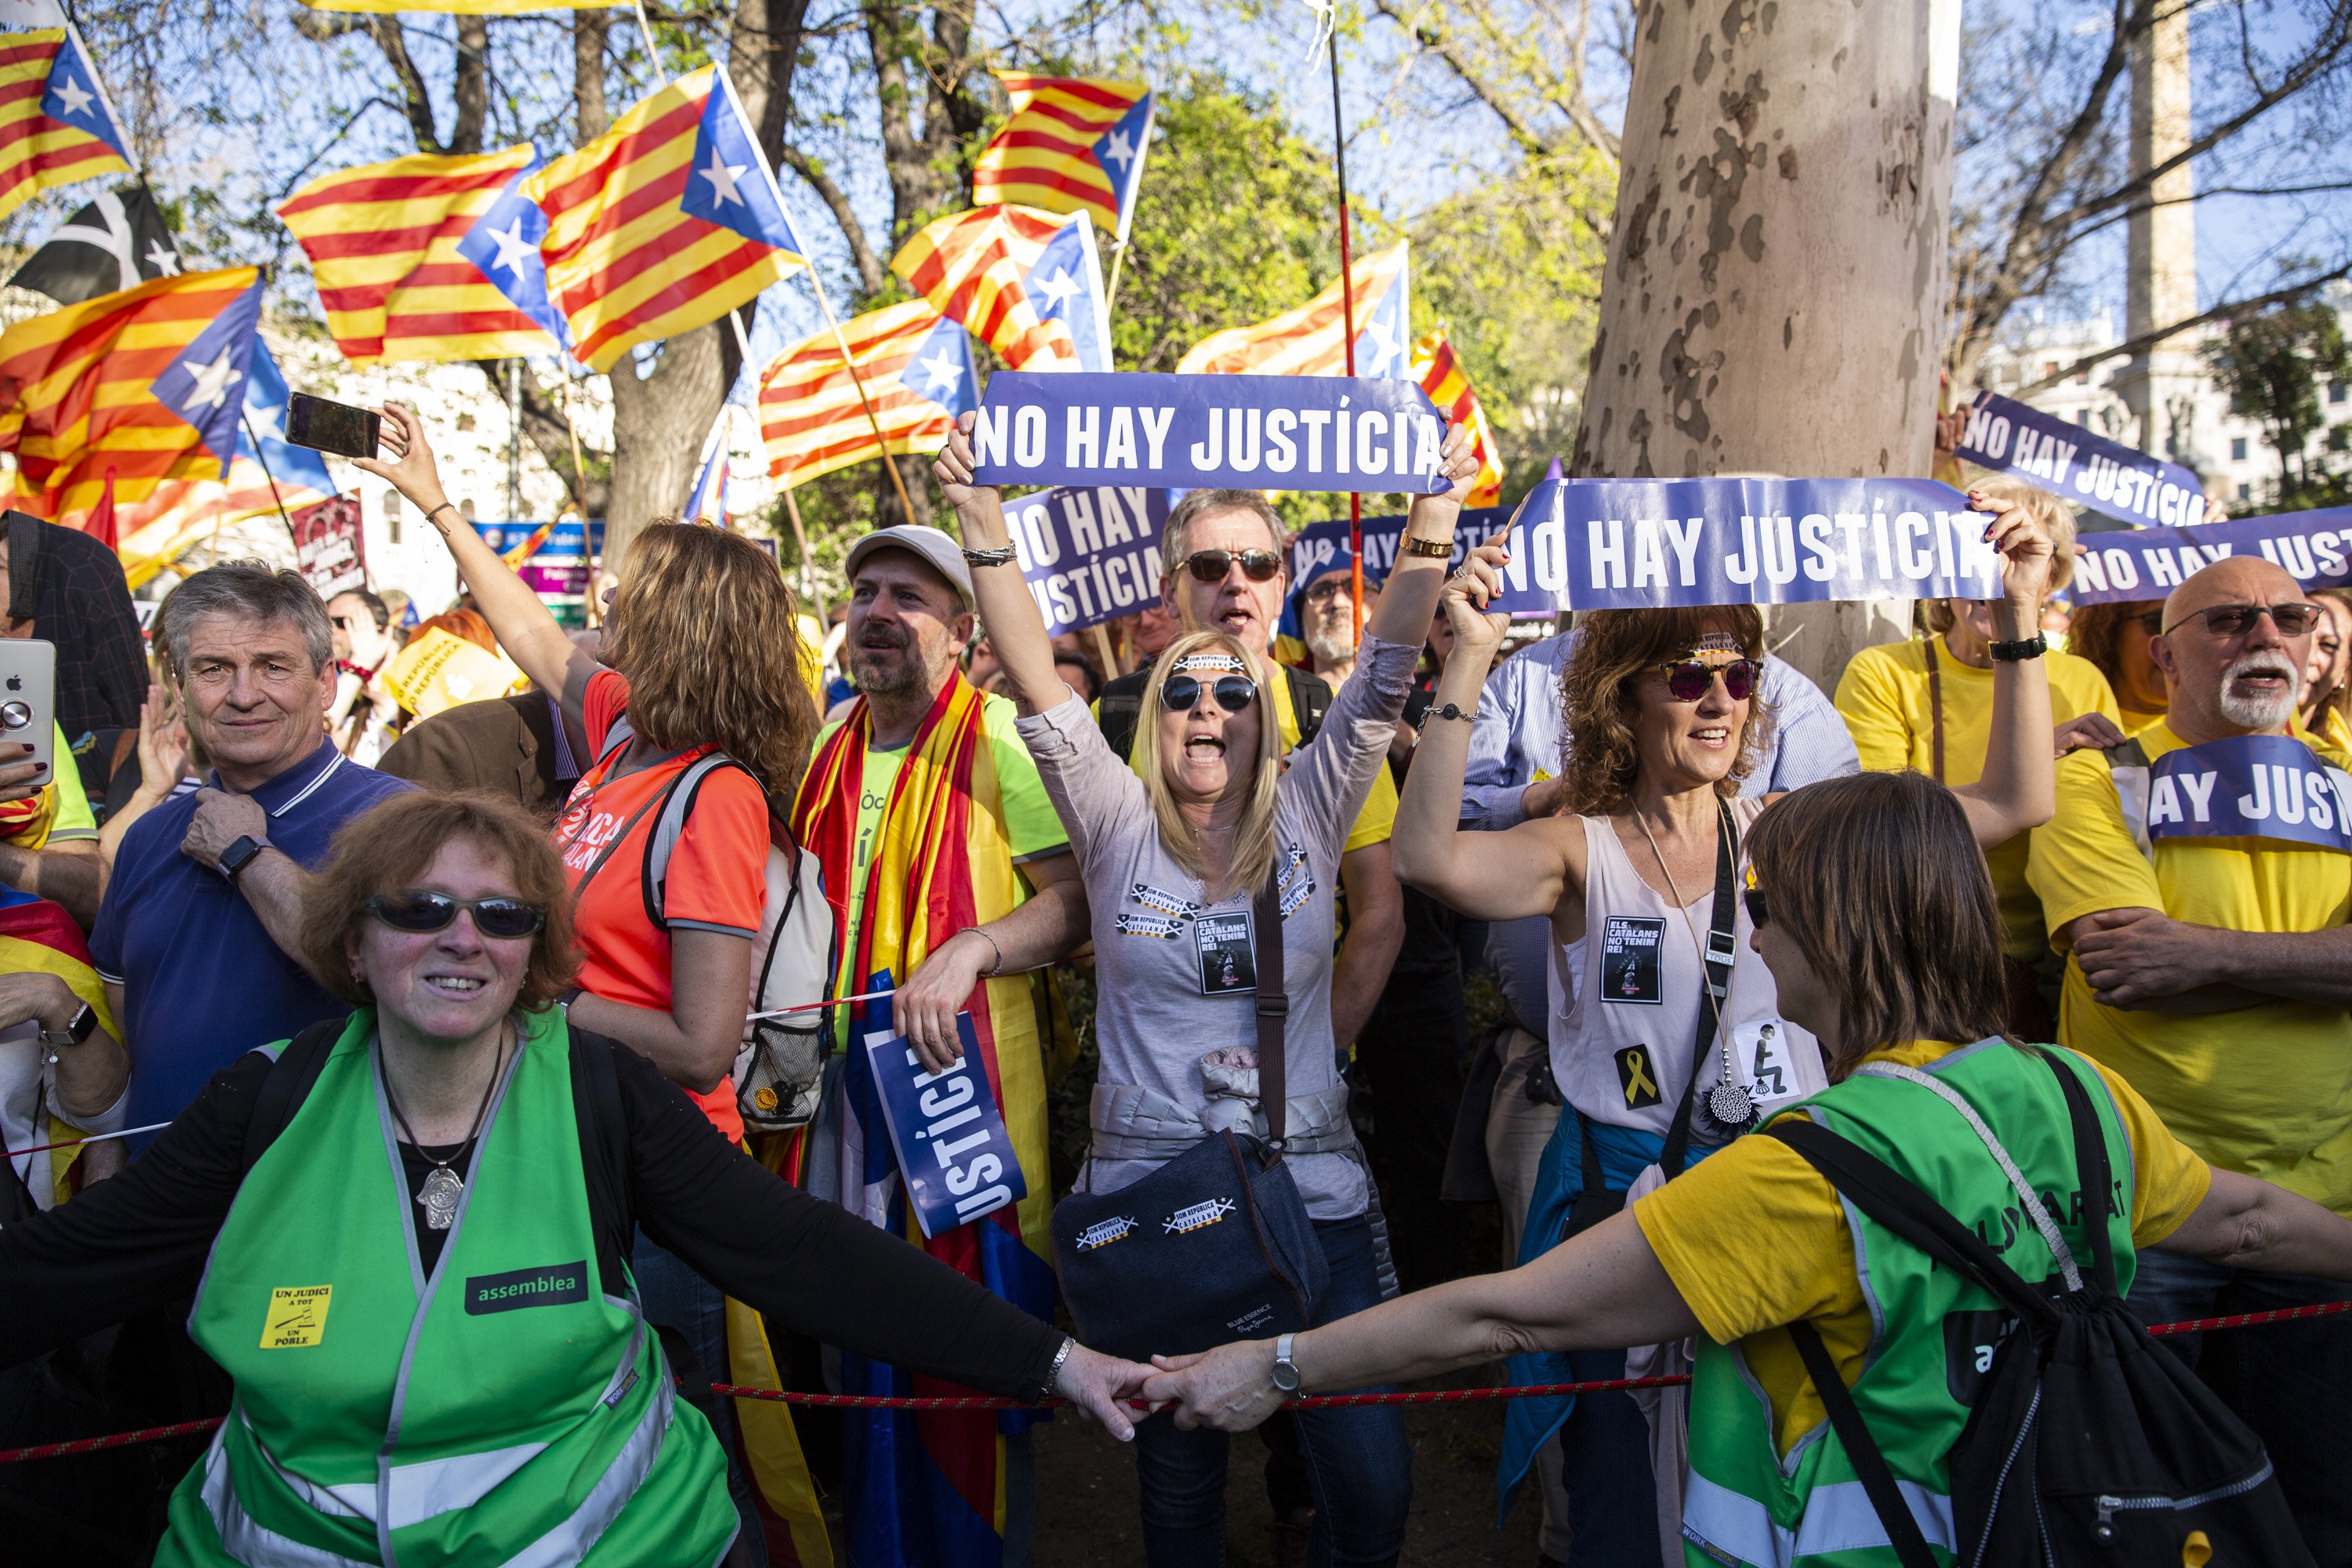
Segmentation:
<svg viewBox="0 0 2352 1568">
<path fill-rule="evenodd" d="M 964 1053 L 946 1072 L 924 1072 L 922 1058 L 896 1030 L 866 1034 L 882 1124 L 898 1154 L 906 1201 L 924 1237 L 969 1225 L 1028 1197 L 1004 1114 L 981 1067 L 971 1013 L 955 1016 Z"/>
</svg>

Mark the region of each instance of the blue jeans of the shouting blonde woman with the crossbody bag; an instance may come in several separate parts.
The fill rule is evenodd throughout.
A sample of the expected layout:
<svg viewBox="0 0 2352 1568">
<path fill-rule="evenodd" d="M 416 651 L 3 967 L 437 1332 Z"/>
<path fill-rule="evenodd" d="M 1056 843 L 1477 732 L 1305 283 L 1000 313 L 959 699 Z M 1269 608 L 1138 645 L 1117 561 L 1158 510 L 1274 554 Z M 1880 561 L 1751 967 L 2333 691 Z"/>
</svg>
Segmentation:
<svg viewBox="0 0 2352 1568">
<path fill-rule="evenodd" d="M 1315 1222 L 1331 1262 L 1317 1326 L 1376 1307 L 1367 1220 Z M 1350 1389 L 1381 1394 L 1385 1389 Z M 1315 1495 L 1308 1563 L 1395 1563 L 1404 1549 L 1404 1514 L 1414 1505 L 1414 1450 L 1395 1406 L 1298 1410 L 1298 1450 Z M 1225 1561 L 1223 1432 L 1178 1432 L 1171 1415 L 1136 1427 L 1136 1479 L 1143 1490 L 1143 1561 L 1150 1568 L 1218 1568 Z"/>
</svg>

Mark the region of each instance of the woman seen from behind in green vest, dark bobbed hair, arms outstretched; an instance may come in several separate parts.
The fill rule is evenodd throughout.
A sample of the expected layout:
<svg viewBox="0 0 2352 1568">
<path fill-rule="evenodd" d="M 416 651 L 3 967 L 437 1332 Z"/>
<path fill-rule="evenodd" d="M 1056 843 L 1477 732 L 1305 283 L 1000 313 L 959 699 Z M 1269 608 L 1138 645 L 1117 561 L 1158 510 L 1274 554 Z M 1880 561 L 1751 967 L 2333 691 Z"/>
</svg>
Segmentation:
<svg viewBox="0 0 2352 1568">
<path fill-rule="evenodd" d="M 2056 1251 L 2016 1220 L 2016 1187 L 1987 1145 L 2009 1152 L 2032 1192 L 2074 1192 L 2067 1105 L 2049 1065 L 2002 1037 L 1999 903 L 1959 799 L 1922 773 L 1835 778 L 1769 806 L 1750 849 L 1750 943 L 1783 1013 L 1820 1041 L 1830 1077 L 1828 1091 L 1780 1114 L 1877 1154 L 1997 1241 L 2018 1274 L 2056 1274 Z M 2105 1220 L 2119 1286 L 2136 1246 L 2352 1279 L 2352 1222 L 2206 1166 L 2124 1079 L 2053 1056 L 2089 1091 L 2122 1178 L 2122 1213 Z M 1990 1359 L 1990 1345 L 1950 1338 L 1947 1321 L 1983 1312 L 1990 1342 L 2004 1328 L 1994 1295 L 1863 1225 L 1867 1276 L 1828 1178 L 1778 1138 L 1740 1138 L 1526 1267 L 1301 1335 L 1164 1359 L 1143 1394 L 1178 1401 L 1178 1425 L 1244 1429 L 1287 1389 L 1698 1335 L 1679 1479 L 1684 1561 L 1884 1568 L 1898 1561 L 1893 1544 L 1844 1446 L 1823 1432 L 1788 1326 L 1813 1326 L 1922 1533 L 1945 1552 L 1947 1455 L 1969 1420 L 1962 1396 Z M 2056 1229 L 2086 1255 L 2084 1206 L 2058 1213 Z M 1675 1481 L 1661 1476 L 1661 1488 Z"/>
</svg>

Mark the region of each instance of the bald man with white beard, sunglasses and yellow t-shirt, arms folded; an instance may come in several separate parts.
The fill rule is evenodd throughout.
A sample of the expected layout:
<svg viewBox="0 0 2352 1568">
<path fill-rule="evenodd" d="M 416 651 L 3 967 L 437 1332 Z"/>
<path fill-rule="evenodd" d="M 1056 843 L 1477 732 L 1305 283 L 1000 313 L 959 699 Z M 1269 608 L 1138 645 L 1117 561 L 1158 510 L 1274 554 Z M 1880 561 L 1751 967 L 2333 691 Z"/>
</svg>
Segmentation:
<svg viewBox="0 0 2352 1568">
<path fill-rule="evenodd" d="M 2183 1143 L 2352 1215 L 2347 757 L 2296 729 L 2319 609 L 2260 557 L 2164 602 L 2159 724 L 2058 764 L 2027 877 L 2067 954 L 2058 1044 L 2122 1072 Z M 2143 1321 L 2340 1300 L 2345 1286 L 2143 1258 Z M 2331 1324 L 2166 1340 L 2270 1448 L 2321 1563 L 2352 1561 L 2352 1338 Z"/>
</svg>

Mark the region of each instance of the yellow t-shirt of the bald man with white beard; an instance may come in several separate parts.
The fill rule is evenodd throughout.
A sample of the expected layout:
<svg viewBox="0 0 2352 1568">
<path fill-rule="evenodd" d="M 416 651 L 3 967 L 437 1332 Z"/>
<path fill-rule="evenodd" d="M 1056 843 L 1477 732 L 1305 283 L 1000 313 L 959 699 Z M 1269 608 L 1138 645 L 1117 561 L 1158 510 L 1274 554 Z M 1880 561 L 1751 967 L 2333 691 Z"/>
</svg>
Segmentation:
<svg viewBox="0 0 2352 1568">
<path fill-rule="evenodd" d="M 2154 762 L 2169 724 L 2138 733 Z M 2347 766 L 2340 755 L 2326 755 Z M 2058 764 L 2058 816 L 2027 867 L 2049 929 L 2098 910 L 2164 910 L 2225 931 L 2326 931 L 2352 917 L 2352 856 L 2270 839 L 2159 839 L 2140 853 L 2103 752 Z M 2263 1001 L 2230 1013 L 2103 1006 L 2067 959 L 2058 1041 L 2114 1067 L 2216 1166 L 2352 1215 L 2352 1013 Z"/>
</svg>

